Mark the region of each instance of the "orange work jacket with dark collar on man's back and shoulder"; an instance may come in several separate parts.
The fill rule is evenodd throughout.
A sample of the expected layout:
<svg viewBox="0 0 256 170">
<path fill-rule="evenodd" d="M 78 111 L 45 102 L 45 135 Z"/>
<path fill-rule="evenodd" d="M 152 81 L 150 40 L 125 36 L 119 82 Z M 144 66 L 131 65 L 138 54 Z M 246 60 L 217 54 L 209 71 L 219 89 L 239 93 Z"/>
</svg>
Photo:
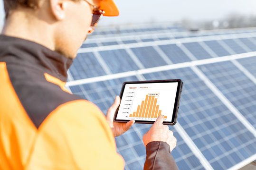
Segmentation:
<svg viewBox="0 0 256 170">
<path fill-rule="evenodd" d="M 71 64 L 0 35 L 0 170 L 123 170 L 104 114 L 64 86 Z"/>
</svg>

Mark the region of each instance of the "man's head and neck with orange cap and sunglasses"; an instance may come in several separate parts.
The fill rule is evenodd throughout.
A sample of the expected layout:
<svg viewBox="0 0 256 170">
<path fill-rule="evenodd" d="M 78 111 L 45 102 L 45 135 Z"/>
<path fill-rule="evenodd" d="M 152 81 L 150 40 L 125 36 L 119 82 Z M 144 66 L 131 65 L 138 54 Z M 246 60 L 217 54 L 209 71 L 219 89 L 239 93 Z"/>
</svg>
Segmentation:
<svg viewBox="0 0 256 170">
<path fill-rule="evenodd" d="M 41 43 L 69 58 L 76 57 L 87 33 L 94 31 L 92 19 L 99 11 L 104 16 L 119 14 L 113 0 L 4 0 L 4 5 L 3 34 Z M 10 31 L 17 26 L 19 32 Z"/>
</svg>

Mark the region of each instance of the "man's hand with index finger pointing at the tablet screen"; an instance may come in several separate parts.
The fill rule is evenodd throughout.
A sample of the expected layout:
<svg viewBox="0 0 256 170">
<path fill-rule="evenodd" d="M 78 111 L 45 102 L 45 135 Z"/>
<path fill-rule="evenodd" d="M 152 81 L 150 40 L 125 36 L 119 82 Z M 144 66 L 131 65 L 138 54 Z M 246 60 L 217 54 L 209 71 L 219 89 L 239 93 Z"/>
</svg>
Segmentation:
<svg viewBox="0 0 256 170">
<path fill-rule="evenodd" d="M 143 142 L 146 146 L 153 141 L 162 141 L 170 145 L 170 151 L 172 151 L 177 143 L 177 139 L 173 136 L 173 132 L 169 130 L 167 125 L 163 125 L 164 116 L 160 115 L 149 131 L 143 136 Z"/>
</svg>

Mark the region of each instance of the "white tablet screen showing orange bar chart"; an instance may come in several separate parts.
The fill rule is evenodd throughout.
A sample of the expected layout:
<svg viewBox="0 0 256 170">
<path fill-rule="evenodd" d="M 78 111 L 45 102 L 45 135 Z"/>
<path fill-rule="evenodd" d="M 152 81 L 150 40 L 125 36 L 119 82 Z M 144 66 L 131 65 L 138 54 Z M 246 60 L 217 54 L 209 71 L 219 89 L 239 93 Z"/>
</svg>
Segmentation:
<svg viewBox="0 0 256 170">
<path fill-rule="evenodd" d="M 155 121 L 162 114 L 171 121 L 176 90 L 177 84 L 168 83 L 126 85 L 117 119 Z"/>
</svg>

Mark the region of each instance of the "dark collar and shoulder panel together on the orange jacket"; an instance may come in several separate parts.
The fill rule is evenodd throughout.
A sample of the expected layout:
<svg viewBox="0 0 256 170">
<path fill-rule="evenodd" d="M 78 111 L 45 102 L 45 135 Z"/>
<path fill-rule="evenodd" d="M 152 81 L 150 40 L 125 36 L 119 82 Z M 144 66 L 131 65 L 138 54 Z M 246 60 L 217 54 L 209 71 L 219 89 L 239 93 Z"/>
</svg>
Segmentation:
<svg viewBox="0 0 256 170">
<path fill-rule="evenodd" d="M 73 62 L 56 51 L 36 42 L 0 35 L 0 61 L 6 63 L 14 90 L 37 128 L 59 105 L 81 99 L 47 82 L 44 73 L 65 82 Z"/>
</svg>

